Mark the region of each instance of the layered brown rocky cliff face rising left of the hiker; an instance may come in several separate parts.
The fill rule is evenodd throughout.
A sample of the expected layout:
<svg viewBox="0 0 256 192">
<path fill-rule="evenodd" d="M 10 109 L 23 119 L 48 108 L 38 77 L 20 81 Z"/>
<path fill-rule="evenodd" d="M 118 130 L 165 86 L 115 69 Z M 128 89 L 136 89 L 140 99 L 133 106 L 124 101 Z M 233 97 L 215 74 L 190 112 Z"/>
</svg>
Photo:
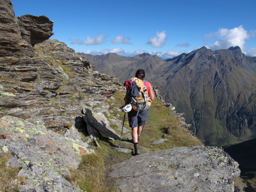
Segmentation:
<svg viewBox="0 0 256 192">
<path fill-rule="evenodd" d="M 1 8 L 0 115 L 63 131 L 81 124 L 82 108 L 108 108 L 106 99 L 119 86 L 116 78 L 97 72 L 63 42 L 46 40 L 53 22 L 45 16 L 17 19 L 9 0 L 1 0 Z"/>
</svg>

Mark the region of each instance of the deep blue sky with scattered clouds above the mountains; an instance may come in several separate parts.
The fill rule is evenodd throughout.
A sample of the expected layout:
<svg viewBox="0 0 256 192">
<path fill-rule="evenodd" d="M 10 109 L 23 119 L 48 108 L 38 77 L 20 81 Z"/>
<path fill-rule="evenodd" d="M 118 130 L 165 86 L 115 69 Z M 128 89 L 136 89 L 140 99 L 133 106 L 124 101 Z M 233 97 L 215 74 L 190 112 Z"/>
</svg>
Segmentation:
<svg viewBox="0 0 256 192">
<path fill-rule="evenodd" d="M 166 59 L 206 46 L 256 56 L 256 0 L 11 0 L 16 17 L 54 21 L 52 39 L 76 52 Z"/>
</svg>

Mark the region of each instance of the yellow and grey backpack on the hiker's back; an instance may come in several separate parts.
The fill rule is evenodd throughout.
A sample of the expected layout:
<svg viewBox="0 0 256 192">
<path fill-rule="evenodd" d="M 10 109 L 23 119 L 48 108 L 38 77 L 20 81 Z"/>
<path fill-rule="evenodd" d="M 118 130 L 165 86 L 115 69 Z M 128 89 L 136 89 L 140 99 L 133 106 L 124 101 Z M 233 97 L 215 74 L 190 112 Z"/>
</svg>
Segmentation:
<svg viewBox="0 0 256 192">
<path fill-rule="evenodd" d="M 128 98 L 132 103 L 132 108 L 138 112 L 147 110 L 152 102 L 144 82 L 145 80 L 136 77 L 124 82 L 124 86 L 128 89 Z"/>
</svg>

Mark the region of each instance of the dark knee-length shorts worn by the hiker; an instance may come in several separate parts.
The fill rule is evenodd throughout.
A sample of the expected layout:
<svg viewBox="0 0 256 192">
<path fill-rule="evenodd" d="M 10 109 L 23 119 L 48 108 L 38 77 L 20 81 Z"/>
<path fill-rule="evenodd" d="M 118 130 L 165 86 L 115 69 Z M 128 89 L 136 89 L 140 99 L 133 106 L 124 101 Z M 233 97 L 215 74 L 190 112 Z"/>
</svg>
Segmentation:
<svg viewBox="0 0 256 192">
<path fill-rule="evenodd" d="M 148 116 L 148 110 L 140 111 L 138 117 L 136 117 L 136 115 L 137 111 L 131 110 L 130 112 L 128 112 L 128 120 L 130 127 L 142 126 Z"/>
</svg>

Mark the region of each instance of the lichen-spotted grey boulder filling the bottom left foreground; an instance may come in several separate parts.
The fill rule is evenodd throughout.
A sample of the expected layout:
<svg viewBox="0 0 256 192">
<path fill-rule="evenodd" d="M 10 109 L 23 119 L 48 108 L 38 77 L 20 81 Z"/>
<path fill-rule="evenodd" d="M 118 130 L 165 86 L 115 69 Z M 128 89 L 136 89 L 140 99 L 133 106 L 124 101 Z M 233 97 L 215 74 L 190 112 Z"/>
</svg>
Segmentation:
<svg viewBox="0 0 256 192">
<path fill-rule="evenodd" d="M 81 191 L 64 176 L 70 174 L 68 168 L 78 168 L 82 155 L 94 150 L 88 149 L 74 127 L 61 136 L 40 124 L 4 116 L 0 119 L 0 134 L 0 152 L 13 155 L 8 163 L 20 167 L 18 176 L 26 179 L 21 192 Z"/>
</svg>

